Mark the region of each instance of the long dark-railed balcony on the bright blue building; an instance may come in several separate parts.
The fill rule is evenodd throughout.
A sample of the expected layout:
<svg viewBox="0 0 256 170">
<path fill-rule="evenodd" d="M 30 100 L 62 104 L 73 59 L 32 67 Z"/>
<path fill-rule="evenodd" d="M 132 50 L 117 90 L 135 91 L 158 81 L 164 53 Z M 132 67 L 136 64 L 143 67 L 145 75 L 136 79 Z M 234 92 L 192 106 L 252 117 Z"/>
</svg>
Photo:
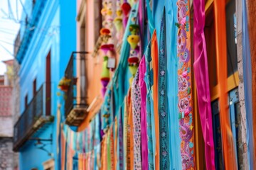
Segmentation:
<svg viewBox="0 0 256 170">
<path fill-rule="evenodd" d="M 14 125 L 15 152 L 43 125 L 53 122 L 53 116 L 50 115 L 50 85 L 47 83 L 41 86 Z"/>
</svg>

